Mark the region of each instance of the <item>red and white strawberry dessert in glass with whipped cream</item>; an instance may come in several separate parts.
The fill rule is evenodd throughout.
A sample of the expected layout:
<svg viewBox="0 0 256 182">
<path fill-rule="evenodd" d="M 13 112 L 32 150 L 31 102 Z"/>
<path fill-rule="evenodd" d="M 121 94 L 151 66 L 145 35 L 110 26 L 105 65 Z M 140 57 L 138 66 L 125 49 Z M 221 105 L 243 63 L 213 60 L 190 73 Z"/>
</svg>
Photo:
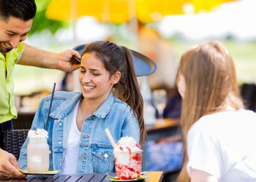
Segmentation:
<svg viewBox="0 0 256 182">
<path fill-rule="evenodd" d="M 122 137 L 115 149 L 115 167 L 118 180 L 140 177 L 141 147 L 132 137 Z"/>
</svg>

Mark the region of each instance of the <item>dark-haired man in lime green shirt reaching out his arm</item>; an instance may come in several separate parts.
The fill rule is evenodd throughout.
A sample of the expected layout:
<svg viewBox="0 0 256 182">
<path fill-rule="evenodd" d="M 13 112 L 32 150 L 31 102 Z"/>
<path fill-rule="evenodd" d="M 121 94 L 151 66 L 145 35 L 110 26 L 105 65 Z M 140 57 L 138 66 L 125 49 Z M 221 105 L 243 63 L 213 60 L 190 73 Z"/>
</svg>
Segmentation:
<svg viewBox="0 0 256 182">
<path fill-rule="evenodd" d="M 12 128 L 11 120 L 17 117 L 14 105 L 12 71 L 16 63 L 41 68 L 73 71 L 72 56 L 78 52 L 66 50 L 59 54 L 45 52 L 23 43 L 31 29 L 37 7 L 34 0 L 0 0 L 0 143 L 1 131 Z M 1 147 L 1 146 L 0 146 Z M 0 149 L 0 178 L 23 178 L 15 157 Z"/>
</svg>

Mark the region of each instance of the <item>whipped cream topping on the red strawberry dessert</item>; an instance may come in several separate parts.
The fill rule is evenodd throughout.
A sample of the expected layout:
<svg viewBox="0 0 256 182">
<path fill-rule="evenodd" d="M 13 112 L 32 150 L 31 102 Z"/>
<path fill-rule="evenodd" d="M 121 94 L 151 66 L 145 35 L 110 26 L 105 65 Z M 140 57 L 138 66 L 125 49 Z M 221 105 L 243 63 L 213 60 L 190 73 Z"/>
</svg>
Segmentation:
<svg viewBox="0 0 256 182">
<path fill-rule="evenodd" d="M 122 137 L 114 149 L 116 152 L 140 152 L 141 147 L 136 143 L 132 137 Z"/>
</svg>

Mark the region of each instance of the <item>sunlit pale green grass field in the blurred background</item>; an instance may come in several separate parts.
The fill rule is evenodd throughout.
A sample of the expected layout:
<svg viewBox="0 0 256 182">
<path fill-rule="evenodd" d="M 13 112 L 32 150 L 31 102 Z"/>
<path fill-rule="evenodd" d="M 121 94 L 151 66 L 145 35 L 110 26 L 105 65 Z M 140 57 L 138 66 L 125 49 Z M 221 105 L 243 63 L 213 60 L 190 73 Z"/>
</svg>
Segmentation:
<svg viewBox="0 0 256 182">
<path fill-rule="evenodd" d="M 197 43 L 199 42 L 170 41 L 173 52 L 176 52 L 177 60 L 183 52 Z M 240 41 L 222 41 L 222 43 L 225 44 L 235 61 L 238 82 L 256 82 L 256 43 Z M 17 65 L 13 74 L 15 93 L 24 95 L 39 90 L 50 91 L 54 82 L 58 87 L 63 75 L 62 71 Z"/>
</svg>

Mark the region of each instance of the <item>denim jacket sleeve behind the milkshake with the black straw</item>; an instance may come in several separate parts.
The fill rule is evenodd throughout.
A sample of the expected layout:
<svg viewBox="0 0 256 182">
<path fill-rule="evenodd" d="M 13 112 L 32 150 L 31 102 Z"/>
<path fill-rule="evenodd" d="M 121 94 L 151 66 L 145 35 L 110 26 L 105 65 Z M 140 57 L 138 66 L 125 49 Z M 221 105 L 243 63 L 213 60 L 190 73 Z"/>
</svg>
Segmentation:
<svg viewBox="0 0 256 182">
<path fill-rule="evenodd" d="M 37 128 L 45 128 L 45 120 L 46 120 L 46 114 L 48 113 L 46 111 L 47 106 L 45 106 L 45 99 L 42 99 L 41 103 L 39 104 L 39 108 L 37 109 L 36 114 L 34 115 L 34 119 L 32 122 L 31 130 L 37 130 Z M 29 138 L 26 138 L 26 141 L 23 143 L 23 146 L 21 146 L 20 149 L 20 157 L 18 159 L 18 163 L 20 165 L 20 169 L 27 170 L 26 167 L 26 149 L 29 144 Z"/>
</svg>

